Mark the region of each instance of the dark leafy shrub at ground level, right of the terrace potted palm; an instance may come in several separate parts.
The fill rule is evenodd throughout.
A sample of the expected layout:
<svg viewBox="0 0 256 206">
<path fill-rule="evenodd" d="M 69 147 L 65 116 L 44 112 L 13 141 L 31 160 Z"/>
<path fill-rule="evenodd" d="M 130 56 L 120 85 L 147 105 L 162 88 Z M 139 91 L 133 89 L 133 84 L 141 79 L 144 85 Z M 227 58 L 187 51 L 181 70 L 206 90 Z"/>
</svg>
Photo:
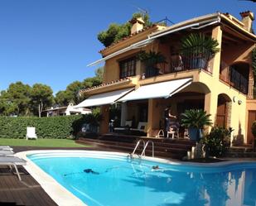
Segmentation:
<svg viewBox="0 0 256 206">
<path fill-rule="evenodd" d="M 224 156 L 230 145 L 230 135 L 233 130 L 224 127 L 212 127 L 210 134 L 207 134 L 202 142 L 205 143 L 210 156 Z M 206 152 L 207 152 L 206 151 Z"/>
</svg>

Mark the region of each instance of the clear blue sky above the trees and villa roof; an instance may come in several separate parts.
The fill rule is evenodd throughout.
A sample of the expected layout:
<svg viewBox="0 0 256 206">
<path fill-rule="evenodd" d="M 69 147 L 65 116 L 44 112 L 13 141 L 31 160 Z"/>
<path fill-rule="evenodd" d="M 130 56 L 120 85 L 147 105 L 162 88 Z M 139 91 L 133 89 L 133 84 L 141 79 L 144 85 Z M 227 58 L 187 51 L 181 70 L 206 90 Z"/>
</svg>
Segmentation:
<svg viewBox="0 0 256 206">
<path fill-rule="evenodd" d="M 256 13 L 256 3 L 239 0 L 0 0 L 0 90 L 22 81 L 50 85 L 56 93 L 94 76 L 97 66 L 86 65 L 104 48 L 97 34 L 111 22 L 127 22 L 135 6 L 147 9 L 152 22 Z"/>
</svg>

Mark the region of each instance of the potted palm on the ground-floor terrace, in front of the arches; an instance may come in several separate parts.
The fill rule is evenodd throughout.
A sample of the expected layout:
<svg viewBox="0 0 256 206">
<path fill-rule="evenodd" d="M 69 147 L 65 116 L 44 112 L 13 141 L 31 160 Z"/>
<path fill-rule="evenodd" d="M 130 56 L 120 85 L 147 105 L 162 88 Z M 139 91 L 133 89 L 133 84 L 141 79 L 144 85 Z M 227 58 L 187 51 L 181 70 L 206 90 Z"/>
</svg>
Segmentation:
<svg viewBox="0 0 256 206">
<path fill-rule="evenodd" d="M 192 141 L 199 141 L 205 126 L 211 126 L 210 114 L 202 109 L 189 109 L 181 113 L 181 126 L 188 129 Z"/>
</svg>

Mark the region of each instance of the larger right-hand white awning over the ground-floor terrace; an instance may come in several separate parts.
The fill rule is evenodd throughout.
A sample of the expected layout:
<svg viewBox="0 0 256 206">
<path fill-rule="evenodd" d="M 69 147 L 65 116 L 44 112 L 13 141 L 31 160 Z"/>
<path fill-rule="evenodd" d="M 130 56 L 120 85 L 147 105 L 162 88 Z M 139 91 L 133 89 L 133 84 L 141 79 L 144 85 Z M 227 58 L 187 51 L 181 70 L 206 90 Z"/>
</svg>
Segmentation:
<svg viewBox="0 0 256 206">
<path fill-rule="evenodd" d="M 119 98 L 118 102 L 126 102 L 131 100 L 147 99 L 147 98 L 169 98 L 171 95 L 178 93 L 181 89 L 191 84 L 192 78 L 176 79 L 157 84 L 147 84 L 141 86 L 131 93 Z"/>
</svg>

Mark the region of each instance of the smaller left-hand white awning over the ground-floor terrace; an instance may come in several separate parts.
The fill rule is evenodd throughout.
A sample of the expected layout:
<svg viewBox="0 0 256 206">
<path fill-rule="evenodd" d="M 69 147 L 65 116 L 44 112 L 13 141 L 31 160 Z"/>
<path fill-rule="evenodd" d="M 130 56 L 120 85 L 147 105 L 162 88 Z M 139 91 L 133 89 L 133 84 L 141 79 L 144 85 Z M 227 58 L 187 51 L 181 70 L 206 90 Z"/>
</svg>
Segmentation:
<svg viewBox="0 0 256 206">
<path fill-rule="evenodd" d="M 122 98 L 125 94 L 132 91 L 133 88 L 120 89 L 109 93 L 99 93 L 86 98 L 85 101 L 79 103 L 75 108 L 89 108 L 94 106 L 100 106 L 105 104 L 113 104 L 119 98 Z"/>
</svg>

